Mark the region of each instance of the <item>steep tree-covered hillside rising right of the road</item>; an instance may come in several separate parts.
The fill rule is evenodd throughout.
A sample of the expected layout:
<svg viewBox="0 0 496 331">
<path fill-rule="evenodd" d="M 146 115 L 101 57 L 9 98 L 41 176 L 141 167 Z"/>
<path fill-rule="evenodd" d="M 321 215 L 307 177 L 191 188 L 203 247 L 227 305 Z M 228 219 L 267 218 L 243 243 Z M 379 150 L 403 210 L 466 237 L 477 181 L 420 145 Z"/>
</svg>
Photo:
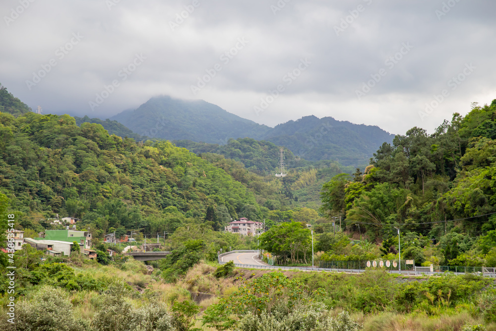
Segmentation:
<svg viewBox="0 0 496 331">
<path fill-rule="evenodd" d="M 397 135 L 364 174 L 324 185 L 322 211 L 371 240 L 388 240 L 386 251 L 399 227 L 402 257 L 419 264 L 495 265 L 495 118 L 496 100 L 454 114 L 432 134 Z"/>
</svg>

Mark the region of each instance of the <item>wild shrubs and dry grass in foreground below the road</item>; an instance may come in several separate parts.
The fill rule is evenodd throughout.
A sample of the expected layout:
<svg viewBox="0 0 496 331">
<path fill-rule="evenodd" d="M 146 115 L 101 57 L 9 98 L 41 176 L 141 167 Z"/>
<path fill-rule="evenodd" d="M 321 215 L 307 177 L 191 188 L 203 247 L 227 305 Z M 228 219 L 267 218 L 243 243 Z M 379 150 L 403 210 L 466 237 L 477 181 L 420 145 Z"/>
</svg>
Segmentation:
<svg viewBox="0 0 496 331">
<path fill-rule="evenodd" d="M 148 274 L 134 260 L 40 254 L 16 253 L 16 323 L 6 322 L 3 282 L 1 330 L 496 330 L 494 280 L 476 275 L 269 272 L 172 257 Z M 201 245 L 183 256 L 201 258 Z"/>
</svg>

